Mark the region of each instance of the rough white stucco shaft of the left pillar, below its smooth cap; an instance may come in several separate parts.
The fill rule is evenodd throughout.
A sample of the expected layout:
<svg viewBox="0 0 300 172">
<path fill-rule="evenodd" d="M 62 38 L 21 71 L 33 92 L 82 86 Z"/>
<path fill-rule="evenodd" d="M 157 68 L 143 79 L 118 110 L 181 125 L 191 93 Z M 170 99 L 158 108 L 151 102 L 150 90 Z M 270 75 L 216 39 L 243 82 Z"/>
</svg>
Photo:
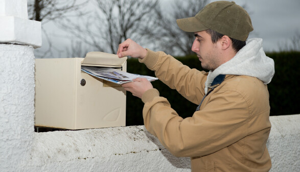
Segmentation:
<svg viewBox="0 0 300 172">
<path fill-rule="evenodd" d="M 24 166 L 34 136 L 34 55 L 27 45 L 0 44 L 0 171 Z"/>
</svg>

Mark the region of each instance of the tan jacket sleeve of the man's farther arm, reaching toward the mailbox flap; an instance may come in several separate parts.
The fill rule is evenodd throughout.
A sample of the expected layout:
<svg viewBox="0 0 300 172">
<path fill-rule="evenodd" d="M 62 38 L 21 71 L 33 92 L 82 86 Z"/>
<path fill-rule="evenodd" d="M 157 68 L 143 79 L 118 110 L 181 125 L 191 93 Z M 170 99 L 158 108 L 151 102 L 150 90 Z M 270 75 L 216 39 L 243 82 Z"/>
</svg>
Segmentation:
<svg viewBox="0 0 300 172">
<path fill-rule="evenodd" d="M 176 89 L 190 102 L 199 104 L 204 93 L 207 73 L 183 65 L 164 52 L 147 50 L 147 55 L 140 62 L 145 63 L 155 76 L 172 89 Z"/>
</svg>

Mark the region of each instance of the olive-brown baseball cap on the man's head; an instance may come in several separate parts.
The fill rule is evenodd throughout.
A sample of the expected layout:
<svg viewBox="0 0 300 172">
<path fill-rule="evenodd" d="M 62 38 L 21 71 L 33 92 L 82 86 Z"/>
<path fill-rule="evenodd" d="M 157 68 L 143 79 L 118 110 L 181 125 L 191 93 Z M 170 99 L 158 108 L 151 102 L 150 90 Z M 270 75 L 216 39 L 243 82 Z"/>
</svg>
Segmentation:
<svg viewBox="0 0 300 172">
<path fill-rule="evenodd" d="M 245 41 L 253 31 L 249 14 L 234 1 L 210 3 L 194 17 L 177 19 L 176 22 L 179 28 L 186 32 L 212 29 L 241 41 Z"/>
</svg>

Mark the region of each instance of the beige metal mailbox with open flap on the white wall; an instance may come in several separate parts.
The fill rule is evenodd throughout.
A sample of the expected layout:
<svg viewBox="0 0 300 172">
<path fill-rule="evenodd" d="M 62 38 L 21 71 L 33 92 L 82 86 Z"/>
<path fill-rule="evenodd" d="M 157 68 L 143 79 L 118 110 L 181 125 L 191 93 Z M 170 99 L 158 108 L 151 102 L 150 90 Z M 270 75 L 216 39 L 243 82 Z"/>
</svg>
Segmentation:
<svg viewBox="0 0 300 172">
<path fill-rule="evenodd" d="M 35 126 L 90 129 L 125 126 L 126 91 L 81 71 L 81 65 L 126 71 L 127 58 L 90 52 L 85 58 L 35 59 Z"/>
</svg>

